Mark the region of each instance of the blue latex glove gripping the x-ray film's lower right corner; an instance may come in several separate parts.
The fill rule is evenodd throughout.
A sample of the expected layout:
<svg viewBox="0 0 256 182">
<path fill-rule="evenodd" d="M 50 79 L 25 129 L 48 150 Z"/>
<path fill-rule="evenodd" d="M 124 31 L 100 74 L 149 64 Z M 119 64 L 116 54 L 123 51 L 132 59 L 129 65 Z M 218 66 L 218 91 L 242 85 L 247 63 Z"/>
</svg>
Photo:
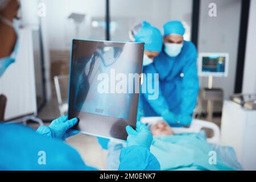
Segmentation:
<svg viewBox="0 0 256 182">
<path fill-rule="evenodd" d="M 153 137 L 148 130 L 147 126 L 142 122 L 137 121 L 136 131 L 131 126 L 126 126 L 127 137 L 127 147 L 130 146 L 142 146 L 150 149 Z"/>
</svg>

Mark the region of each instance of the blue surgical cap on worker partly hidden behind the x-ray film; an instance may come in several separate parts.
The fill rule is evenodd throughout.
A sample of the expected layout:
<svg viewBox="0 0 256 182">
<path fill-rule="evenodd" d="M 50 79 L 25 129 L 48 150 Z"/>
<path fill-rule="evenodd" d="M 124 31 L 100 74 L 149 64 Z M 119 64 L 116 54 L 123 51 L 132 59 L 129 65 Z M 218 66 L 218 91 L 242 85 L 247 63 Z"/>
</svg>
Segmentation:
<svg viewBox="0 0 256 182">
<path fill-rule="evenodd" d="M 142 27 L 134 38 L 135 42 L 145 43 L 145 51 L 160 52 L 162 50 L 163 37 L 161 32 L 146 21 L 142 22 Z"/>
</svg>

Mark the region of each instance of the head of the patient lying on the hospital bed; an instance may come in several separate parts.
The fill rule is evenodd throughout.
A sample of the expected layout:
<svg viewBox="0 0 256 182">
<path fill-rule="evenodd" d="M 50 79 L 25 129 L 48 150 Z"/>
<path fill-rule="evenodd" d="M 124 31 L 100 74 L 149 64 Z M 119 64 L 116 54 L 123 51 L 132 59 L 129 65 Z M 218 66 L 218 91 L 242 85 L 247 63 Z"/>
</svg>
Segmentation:
<svg viewBox="0 0 256 182">
<path fill-rule="evenodd" d="M 151 134 L 153 136 L 162 136 L 162 135 L 173 135 L 171 127 L 166 122 L 157 122 L 150 127 Z"/>
</svg>

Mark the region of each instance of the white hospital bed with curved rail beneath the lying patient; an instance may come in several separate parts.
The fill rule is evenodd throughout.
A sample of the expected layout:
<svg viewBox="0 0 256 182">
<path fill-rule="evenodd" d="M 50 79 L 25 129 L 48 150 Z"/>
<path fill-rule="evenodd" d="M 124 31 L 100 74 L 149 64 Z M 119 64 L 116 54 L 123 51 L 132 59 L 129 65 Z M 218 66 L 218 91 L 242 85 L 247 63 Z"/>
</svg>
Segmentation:
<svg viewBox="0 0 256 182">
<path fill-rule="evenodd" d="M 164 119 L 162 117 L 141 118 L 141 122 L 145 124 L 154 124 L 160 121 L 164 121 Z M 207 138 L 207 142 L 209 143 L 209 146 L 212 148 L 212 150 L 216 151 L 218 156 L 220 156 L 225 161 L 225 163 L 229 164 L 229 166 L 231 166 L 233 169 L 242 170 L 240 163 L 237 161 L 236 153 L 234 152 L 233 148 L 219 145 L 220 129 L 216 124 L 200 119 L 193 119 L 189 127 L 172 127 L 172 131 L 174 131 L 175 134 L 201 133 L 201 131 L 204 129 L 210 129 L 213 131 L 213 136 L 211 138 Z M 125 144 L 117 140 L 110 140 L 108 147 L 109 154 L 107 158 L 107 168 L 108 170 L 116 170 L 119 165 L 119 159 L 117 156 L 119 156 L 119 152 L 121 151 L 122 147 L 125 147 Z M 178 159 L 179 158 L 177 158 L 177 160 Z M 159 162 L 160 161 L 161 160 L 159 160 Z"/>
</svg>

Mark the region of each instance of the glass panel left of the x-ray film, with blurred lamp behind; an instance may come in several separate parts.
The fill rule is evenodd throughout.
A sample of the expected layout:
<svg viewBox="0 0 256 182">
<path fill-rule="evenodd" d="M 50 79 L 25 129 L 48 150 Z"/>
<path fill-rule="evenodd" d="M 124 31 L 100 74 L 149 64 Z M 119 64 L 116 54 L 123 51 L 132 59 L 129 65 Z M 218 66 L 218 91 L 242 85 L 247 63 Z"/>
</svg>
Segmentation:
<svg viewBox="0 0 256 182">
<path fill-rule="evenodd" d="M 29 3 L 29 2 L 27 2 Z M 53 78 L 68 76 L 72 39 L 105 40 L 105 0 L 42 0 L 46 8 L 45 16 L 40 16 L 43 31 L 44 53 L 46 57 L 47 108 L 40 112 L 40 118 L 59 117 L 57 94 Z M 62 85 L 61 85 L 62 84 Z M 60 82 L 61 90 L 68 90 L 68 82 Z M 63 104 L 66 94 L 61 92 Z M 49 118 L 46 110 L 56 113 Z"/>
</svg>

